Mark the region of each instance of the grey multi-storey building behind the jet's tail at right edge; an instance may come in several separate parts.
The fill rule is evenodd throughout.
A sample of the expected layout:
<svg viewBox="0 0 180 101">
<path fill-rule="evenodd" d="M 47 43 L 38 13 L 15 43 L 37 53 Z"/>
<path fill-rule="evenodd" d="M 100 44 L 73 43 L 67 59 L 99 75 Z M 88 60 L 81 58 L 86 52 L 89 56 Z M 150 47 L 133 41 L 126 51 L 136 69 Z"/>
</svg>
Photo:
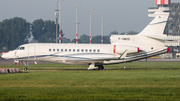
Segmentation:
<svg viewBox="0 0 180 101">
<path fill-rule="evenodd" d="M 179 58 L 176 54 L 178 55 L 178 53 L 180 53 L 180 3 L 171 3 L 170 8 L 170 15 L 164 34 L 166 34 L 169 39 L 175 39 L 177 41 L 166 42 L 165 45 L 170 47 L 173 58 Z"/>
</svg>

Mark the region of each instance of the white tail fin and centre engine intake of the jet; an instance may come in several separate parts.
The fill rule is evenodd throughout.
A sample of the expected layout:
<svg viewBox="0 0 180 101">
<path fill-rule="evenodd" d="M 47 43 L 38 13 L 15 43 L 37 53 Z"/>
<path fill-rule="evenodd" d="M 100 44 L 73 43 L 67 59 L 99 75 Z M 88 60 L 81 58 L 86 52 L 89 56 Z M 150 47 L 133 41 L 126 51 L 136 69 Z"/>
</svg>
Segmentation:
<svg viewBox="0 0 180 101">
<path fill-rule="evenodd" d="M 163 33 L 169 17 L 169 6 L 160 5 L 150 8 L 148 16 L 155 18 L 139 34 L 112 35 L 111 43 L 136 46 L 143 51 L 154 51 L 165 47 L 168 38 Z"/>
</svg>

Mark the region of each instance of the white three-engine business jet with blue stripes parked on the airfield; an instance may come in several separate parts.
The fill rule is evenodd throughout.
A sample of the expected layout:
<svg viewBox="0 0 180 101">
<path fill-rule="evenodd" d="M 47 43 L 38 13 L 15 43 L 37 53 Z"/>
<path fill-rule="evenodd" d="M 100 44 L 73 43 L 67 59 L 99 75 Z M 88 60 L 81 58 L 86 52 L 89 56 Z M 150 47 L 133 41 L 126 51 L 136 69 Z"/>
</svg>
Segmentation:
<svg viewBox="0 0 180 101">
<path fill-rule="evenodd" d="M 25 71 L 28 61 L 89 65 L 88 70 L 103 70 L 103 65 L 127 63 L 169 52 L 165 41 L 170 39 L 163 34 L 169 7 L 149 9 L 149 17 L 155 18 L 142 32 L 137 35 L 112 35 L 111 44 L 24 44 L 2 55 L 2 58 L 23 61 Z"/>
</svg>

